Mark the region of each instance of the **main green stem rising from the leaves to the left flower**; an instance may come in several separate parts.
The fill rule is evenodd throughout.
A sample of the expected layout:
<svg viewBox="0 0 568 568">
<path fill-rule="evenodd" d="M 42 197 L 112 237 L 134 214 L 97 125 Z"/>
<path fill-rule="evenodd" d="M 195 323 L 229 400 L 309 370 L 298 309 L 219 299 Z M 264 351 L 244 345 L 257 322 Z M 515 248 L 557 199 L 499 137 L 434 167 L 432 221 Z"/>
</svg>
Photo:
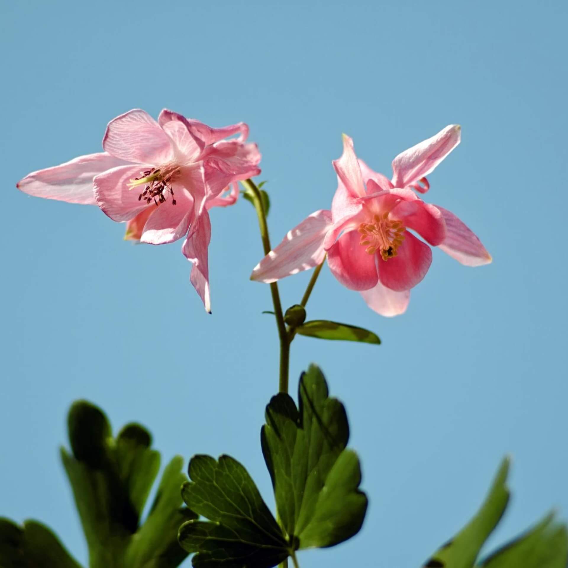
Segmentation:
<svg viewBox="0 0 568 568">
<path fill-rule="evenodd" d="M 266 223 L 266 214 L 262 206 L 262 198 L 260 190 L 252 179 L 241 181 L 244 188 L 249 191 L 253 198 L 254 208 L 258 217 L 258 227 L 260 228 L 260 236 L 262 239 L 262 247 L 264 254 L 268 254 L 272 247 L 270 246 L 270 236 L 268 234 L 268 224 Z M 276 325 L 278 327 L 278 337 L 280 340 L 280 379 L 278 387 L 280 392 L 288 392 L 288 367 L 290 361 L 290 341 L 286 332 L 286 324 L 284 323 L 284 314 L 282 312 L 282 303 L 280 302 L 280 294 L 278 292 L 278 284 L 272 282 L 270 284 L 270 293 L 272 294 L 272 303 L 274 304 L 274 314 L 276 316 Z"/>
</svg>

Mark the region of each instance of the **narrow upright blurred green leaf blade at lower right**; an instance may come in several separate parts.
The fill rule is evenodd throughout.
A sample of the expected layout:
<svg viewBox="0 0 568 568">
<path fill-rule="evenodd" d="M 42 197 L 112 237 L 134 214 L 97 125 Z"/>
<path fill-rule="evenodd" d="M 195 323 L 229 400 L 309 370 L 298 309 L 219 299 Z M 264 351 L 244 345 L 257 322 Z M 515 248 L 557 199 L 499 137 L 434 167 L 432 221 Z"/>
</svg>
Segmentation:
<svg viewBox="0 0 568 568">
<path fill-rule="evenodd" d="M 483 544 L 499 523 L 509 501 L 509 459 L 499 467 L 485 502 L 467 525 L 432 556 L 427 568 L 472 568 Z"/>
</svg>

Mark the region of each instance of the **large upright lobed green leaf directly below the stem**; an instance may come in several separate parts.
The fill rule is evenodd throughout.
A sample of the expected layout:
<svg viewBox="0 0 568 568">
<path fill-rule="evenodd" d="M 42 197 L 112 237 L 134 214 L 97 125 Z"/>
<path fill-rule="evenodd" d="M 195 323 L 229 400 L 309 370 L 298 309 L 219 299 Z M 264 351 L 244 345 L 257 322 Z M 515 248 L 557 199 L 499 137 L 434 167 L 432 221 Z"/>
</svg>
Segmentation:
<svg viewBox="0 0 568 568">
<path fill-rule="evenodd" d="M 329 398 L 315 365 L 300 377 L 298 398 L 299 409 L 289 395 L 273 396 L 261 433 L 278 516 L 294 550 L 347 540 L 367 508 L 357 454 L 346 449 L 345 408 Z"/>
</svg>

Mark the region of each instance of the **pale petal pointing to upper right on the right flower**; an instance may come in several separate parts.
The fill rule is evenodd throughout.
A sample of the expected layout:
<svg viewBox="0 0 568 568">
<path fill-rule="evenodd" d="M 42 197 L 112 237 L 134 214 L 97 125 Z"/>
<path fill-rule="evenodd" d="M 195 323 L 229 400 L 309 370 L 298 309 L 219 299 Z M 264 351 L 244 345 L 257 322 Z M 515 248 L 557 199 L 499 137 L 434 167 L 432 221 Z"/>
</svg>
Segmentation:
<svg viewBox="0 0 568 568">
<path fill-rule="evenodd" d="M 392 160 L 392 183 L 395 187 L 406 187 L 427 176 L 458 144 L 461 127 L 450 124 L 435 136 L 416 144 L 398 154 Z"/>
</svg>

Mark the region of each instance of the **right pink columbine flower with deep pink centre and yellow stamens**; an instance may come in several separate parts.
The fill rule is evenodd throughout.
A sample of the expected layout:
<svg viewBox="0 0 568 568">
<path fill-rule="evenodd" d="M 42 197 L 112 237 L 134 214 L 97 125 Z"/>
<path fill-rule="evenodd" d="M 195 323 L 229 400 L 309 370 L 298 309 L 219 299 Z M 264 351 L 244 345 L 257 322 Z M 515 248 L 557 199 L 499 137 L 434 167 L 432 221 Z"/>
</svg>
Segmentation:
<svg viewBox="0 0 568 568">
<path fill-rule="evenodd" d="M 432 262 L 430 247 L 408 229 L 467 266 L 491 262 L 456 215 L 412 191 L 429 189 L 425 176 L 459 143 L 460 127 L 444 128 L 396 156 L 390 180 L 357 160 L 353 141 L 344 135 L 343 155 L 333 162 L 338 187 L 331 211 L 316 211 L 291 229 L 250 278 L 274 282 L 320 264 L 327 253 L 331 272 L 344 286 L 360 291 L 378 314 L 394 316 L 406 310 L 411 288 Z"/>
</svg>

